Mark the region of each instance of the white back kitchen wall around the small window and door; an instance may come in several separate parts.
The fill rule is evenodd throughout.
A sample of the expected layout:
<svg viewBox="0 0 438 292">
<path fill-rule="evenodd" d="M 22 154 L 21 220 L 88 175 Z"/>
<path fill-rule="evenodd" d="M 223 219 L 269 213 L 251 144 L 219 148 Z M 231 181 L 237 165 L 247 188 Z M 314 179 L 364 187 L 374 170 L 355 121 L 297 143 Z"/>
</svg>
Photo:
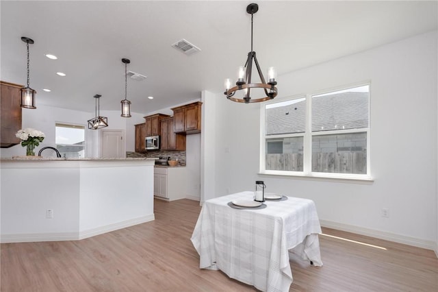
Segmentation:
<svg viewBox="0 0 438 292">
<path fill-rule="evenodd" d="M 32 127 L 42 131 L 46 138 L 36 147 L 36 154 L 42 147 L 55 147 L 55 123 L 75 123 L 86 127 L 86 147 L 87 157 L 99 157 L 99 132 L 100 130 L 88 130 L 87 121 L 94 117 L 94 112 L 81 112 L 78 110 L 66 110 L 65 108 L 53 108 L 51 106 L 38 105 L 36 110 L 22 110 L 22 128 Z M 134 151 L 135 147 L 135 130 L 133 125 L 144 123 L 143 115 L 131 113 L 131 118 L 120 117 L 120 111 L 101 110 L 101 115 L 108 118 L 108 127 L 106 130 L 124 130 L 125 131 L 125 149 Z M 10 158 L 12 156 L 25 156 L 26 149 L 21 145 L 14 145 L 9 148 L 1 148 L 0 156 Z"/>
</svg>

